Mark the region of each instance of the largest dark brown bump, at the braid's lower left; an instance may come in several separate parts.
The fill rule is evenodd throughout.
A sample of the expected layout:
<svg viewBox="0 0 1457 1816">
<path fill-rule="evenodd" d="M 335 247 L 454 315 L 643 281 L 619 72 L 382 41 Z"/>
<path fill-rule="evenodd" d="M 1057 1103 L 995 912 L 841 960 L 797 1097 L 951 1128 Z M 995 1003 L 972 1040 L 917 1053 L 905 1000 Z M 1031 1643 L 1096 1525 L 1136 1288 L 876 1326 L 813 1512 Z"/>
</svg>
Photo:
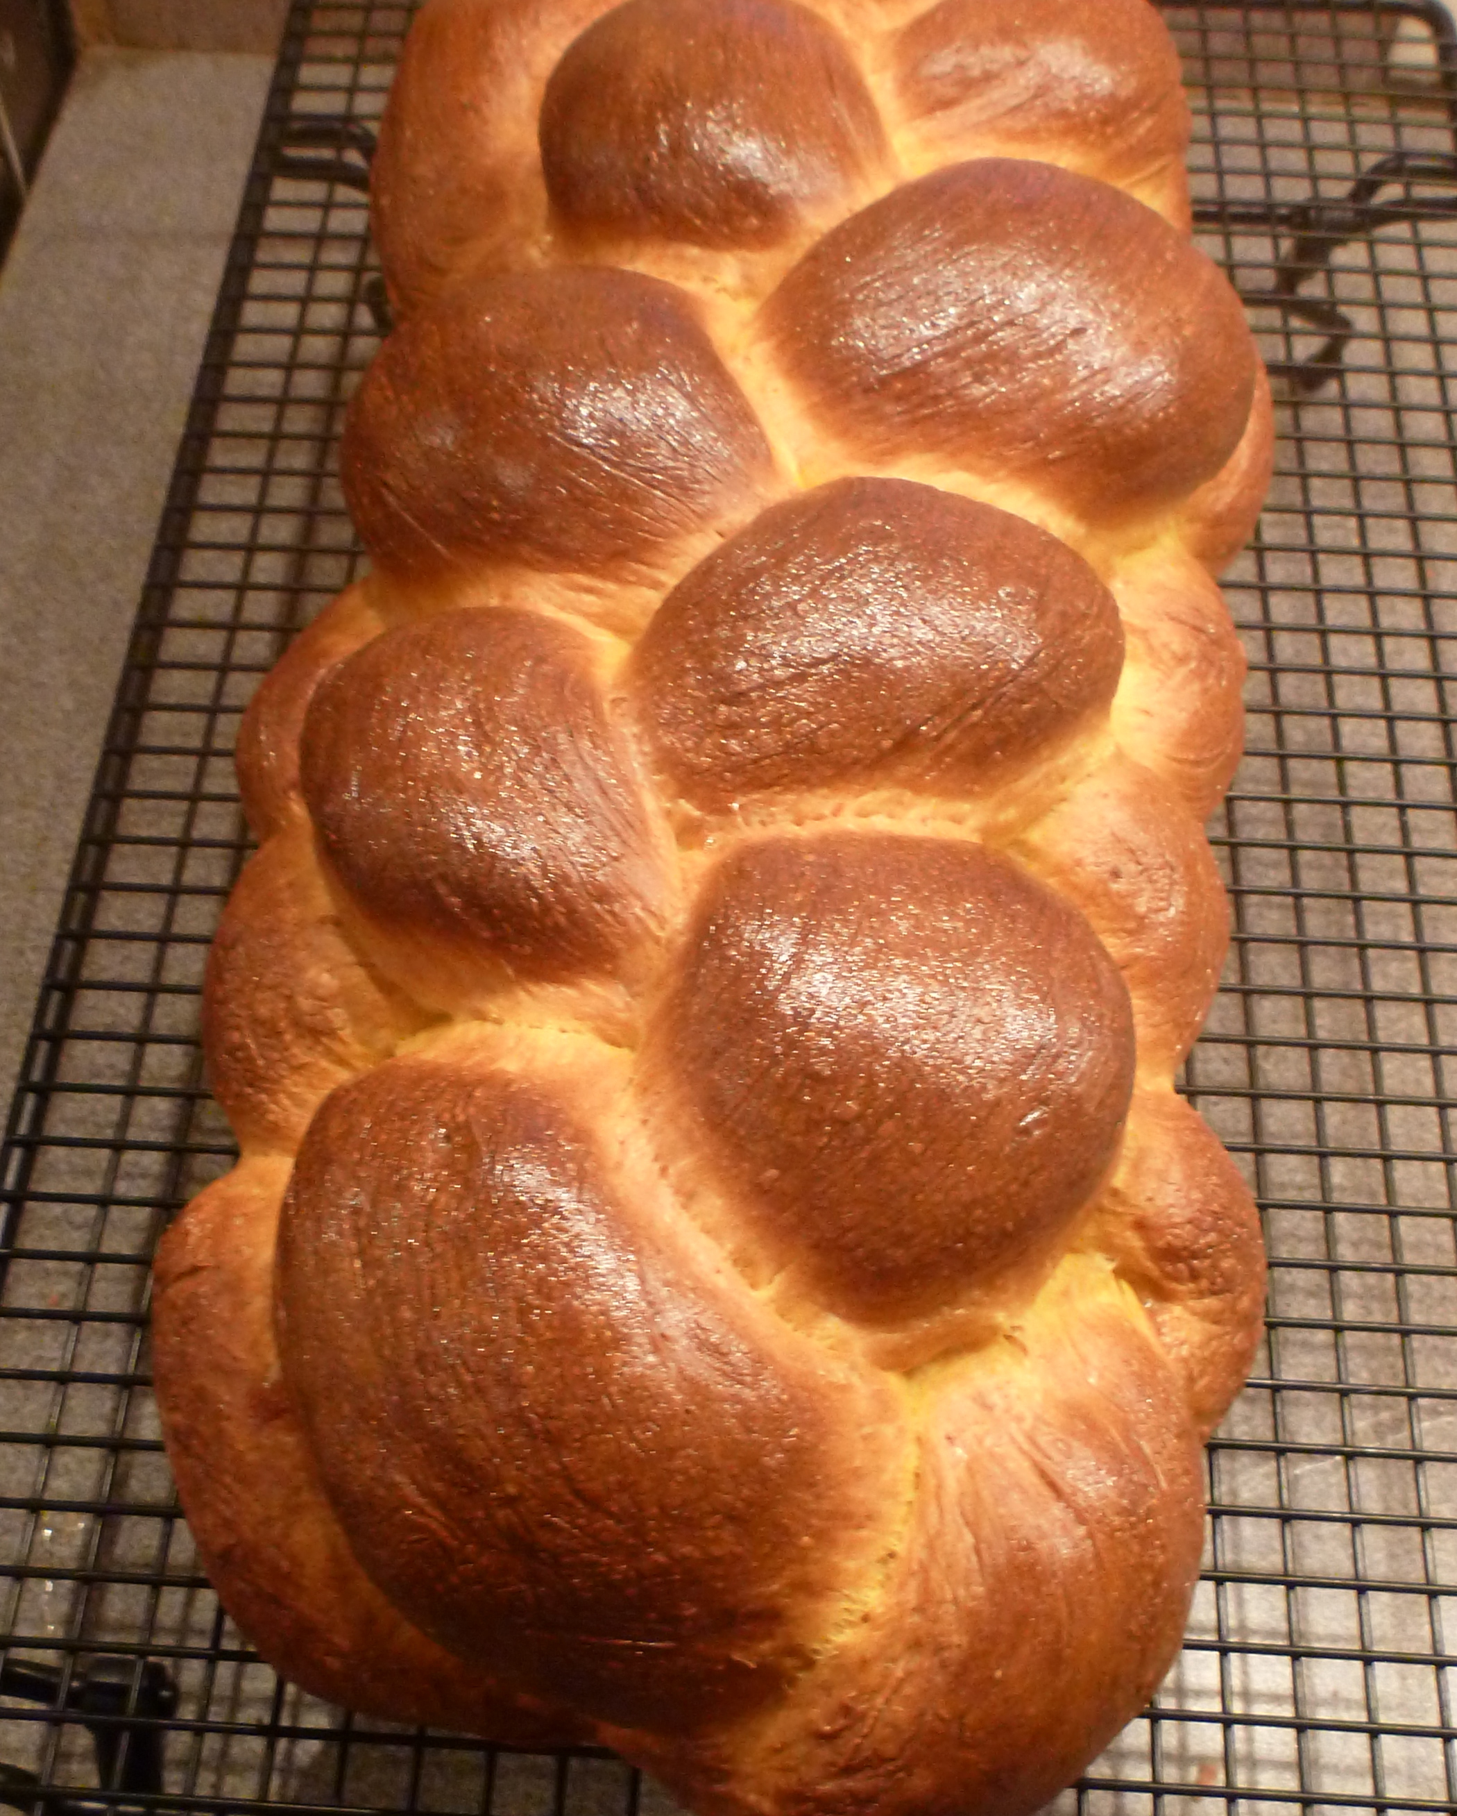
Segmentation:
<svg viewBox="0 0 1457 1816">
<path fill-rule="evenodd" d="M 744 1298 L 611 1153 L 621 1061 L 490 1057 L 381 1066 L 299 1153 L 281 1346 L 323 1480 L 459 1656 L 619 1723 L 742 1714 L 882 1544 L 895 1397 Z"/>
</svg>

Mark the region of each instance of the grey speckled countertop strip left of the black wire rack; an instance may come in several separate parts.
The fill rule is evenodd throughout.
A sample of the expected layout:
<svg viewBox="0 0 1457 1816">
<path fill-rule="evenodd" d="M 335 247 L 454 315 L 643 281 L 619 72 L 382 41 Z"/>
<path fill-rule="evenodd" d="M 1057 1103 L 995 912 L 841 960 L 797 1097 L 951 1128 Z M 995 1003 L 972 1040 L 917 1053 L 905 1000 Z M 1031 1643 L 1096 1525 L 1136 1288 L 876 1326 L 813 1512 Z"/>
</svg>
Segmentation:
<svg viewBox="0 0 1457 1816">
<path fill-rule="evenodd" d="M 0 267 L 9 1104 L 272 64 L 89 51 Z"/>
</svg>

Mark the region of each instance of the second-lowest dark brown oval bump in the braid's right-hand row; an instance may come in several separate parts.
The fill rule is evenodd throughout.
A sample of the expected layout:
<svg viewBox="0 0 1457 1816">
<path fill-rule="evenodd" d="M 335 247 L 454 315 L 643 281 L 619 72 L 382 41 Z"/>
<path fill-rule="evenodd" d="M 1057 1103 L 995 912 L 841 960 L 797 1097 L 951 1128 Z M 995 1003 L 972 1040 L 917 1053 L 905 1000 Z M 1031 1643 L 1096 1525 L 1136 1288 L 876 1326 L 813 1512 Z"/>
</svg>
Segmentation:
<svg viewBox="0 0 1457 1816">
<path fill-rule="evenodd" d="M 666 783 L 702 808 L 762 790 L 978 792 L 1118 686 L 1110 594 L 1022 518 L 905 479 L 771 505 L 682 579 L 630 688 Z"/>
</svg>

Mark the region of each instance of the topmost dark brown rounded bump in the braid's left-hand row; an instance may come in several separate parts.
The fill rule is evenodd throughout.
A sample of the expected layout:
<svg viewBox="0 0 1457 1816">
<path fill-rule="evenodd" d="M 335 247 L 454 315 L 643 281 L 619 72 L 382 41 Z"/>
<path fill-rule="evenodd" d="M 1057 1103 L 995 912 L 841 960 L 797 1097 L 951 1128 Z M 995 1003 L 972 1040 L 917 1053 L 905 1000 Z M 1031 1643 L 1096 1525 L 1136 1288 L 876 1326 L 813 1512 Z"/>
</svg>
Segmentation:
<svg viewBox="0 0 1457 1816">
<path fill-rule="evenodd" d="M 773 245 L 880 162 L 844 42 L 793 0 L 628 0 L 546 84 L 541 158 L 584 234 Z"/>
</svg>

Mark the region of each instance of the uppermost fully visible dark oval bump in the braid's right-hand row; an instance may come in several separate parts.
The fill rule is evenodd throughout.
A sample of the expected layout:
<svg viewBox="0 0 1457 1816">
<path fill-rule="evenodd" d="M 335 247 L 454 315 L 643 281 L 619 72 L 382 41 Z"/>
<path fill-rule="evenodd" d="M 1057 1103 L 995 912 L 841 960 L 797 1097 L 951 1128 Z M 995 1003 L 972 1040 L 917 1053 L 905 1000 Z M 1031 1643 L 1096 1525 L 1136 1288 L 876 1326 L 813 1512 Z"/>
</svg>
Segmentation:
<svg viewBox="0 0 1457 1816">
<path fill-rule="evenodd" d="M 1105 521 L 1216 474 L 1254 394 L 1254 340 L 1210 260 L 1121 191 L 1020 158 L 853 214 L 760 321 L 858 456 L 1036 478 Z"/>
</svg>

